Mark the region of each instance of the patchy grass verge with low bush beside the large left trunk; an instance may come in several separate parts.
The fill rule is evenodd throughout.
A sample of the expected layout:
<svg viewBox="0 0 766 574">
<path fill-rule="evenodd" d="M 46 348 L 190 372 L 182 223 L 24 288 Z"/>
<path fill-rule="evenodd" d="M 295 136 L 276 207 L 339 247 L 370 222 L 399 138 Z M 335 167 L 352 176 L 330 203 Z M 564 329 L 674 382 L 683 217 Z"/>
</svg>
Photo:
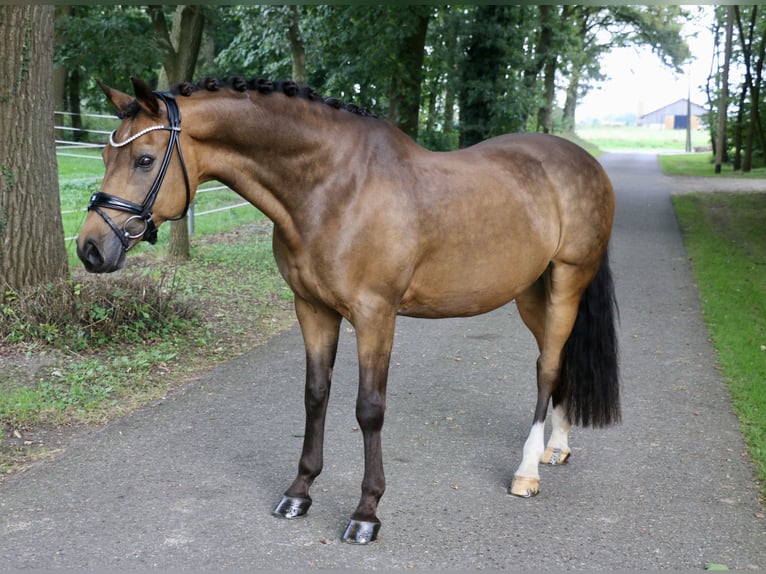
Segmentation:
<svg viewBox="0 0 766 574">
<path fill-rule="evenodd" d="M 293 324 L 262 220 L 0 299 L 0 479 Z"/>
</svg>

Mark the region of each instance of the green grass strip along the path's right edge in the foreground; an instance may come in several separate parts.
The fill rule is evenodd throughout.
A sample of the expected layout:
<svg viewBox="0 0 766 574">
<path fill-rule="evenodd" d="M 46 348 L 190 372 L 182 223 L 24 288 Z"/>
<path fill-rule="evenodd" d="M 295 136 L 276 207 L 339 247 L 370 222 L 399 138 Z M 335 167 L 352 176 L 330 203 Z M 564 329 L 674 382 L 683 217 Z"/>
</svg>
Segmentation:
<svg viewBox="0 0 766 574">
<path fill-rule="evenodd" d="M 679 195 L 673 205 L 766 496 L 766 193 Z"/>
</svg>

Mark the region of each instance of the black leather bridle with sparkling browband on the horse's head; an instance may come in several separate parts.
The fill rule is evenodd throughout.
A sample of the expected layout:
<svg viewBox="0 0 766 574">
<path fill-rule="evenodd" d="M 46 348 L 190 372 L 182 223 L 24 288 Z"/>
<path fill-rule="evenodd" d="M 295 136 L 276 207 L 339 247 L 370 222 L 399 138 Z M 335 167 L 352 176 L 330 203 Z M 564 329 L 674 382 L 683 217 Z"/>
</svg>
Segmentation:
<svg viewBox="0 0 766 574">
<path fill-rule="evenodd" d="M 168 141 L 168 147 L 165 150 L 165 157 L 162 158 L 160 171 L 157 173 L 157 177 L 154 179 L 154 183 L 149 189 L 149 193 L 146 194 L 144 202 L 139 205 L 137 203 L 133 203 L 132 201 L 128 201 L 127 199 L 121 199 L 119 197 L 115 197 L 114 195 L 104 193 L 103 191 L 98 191 L 91 196 L 90 203 L 88 204 L 88 211 L 95 211 L 103 218 L 104 221 L 106 221 L 109 227 L 112 228 L 112 231 L 114 231 L 115 235 L 117 235 L 117 238 L 122 243 L 122 247 L 125 249 L 125 251 L 130 249 L 130 242 L 134 239 L 142 238 L 144 241 L 148 241 L 152 244 L 157 242 L 157 227 L 154 225 L 154 221 L 152 221 L 152 208 L 154 207 L 154 202 L 157 200 L 157 194 L 160 192 L 160 187 L 162 187 L 162 180 L 165 179 L 165 174 L 168 171 L 170 158 L 173 155 L 174 149 L 178 151 L 178 159 L 181 162 L 181 169 L 184 174 L 184 183 L 186 184 L 186 207 L 184 207 L 183 213 L 181 213 L 181 215 L 168 218 L 168 220 L 176 221 L 183 219 L 186 216 L 187 211 L 189 211 L 189 204 L 191 203 L 189 174 L 186 172 L 186 163 L 184 162 L 184 156 L 181 153 L 181 144 L 178 141 L 178 134 L 181 132 L 181 112 L 178 110 L 178 104 L 176 103 L 176 99 L 173 94 L 169 92 L 154 92 L 154 94 L 163 102 L 165 102 L 165 106 L 167 107 L 168 111 L 168 123 L 170 125 L 157 125 L 146 128 L 145 130 L 141 130 L 137 134 L 130 136 L 128 139 L 122 142 L 116 142 L 114 140 L 114 135 L 117 130 L 113 131 L 109 136 L 109 145 L 119 148 L 128 145 L 132 141 L 149 132 L 156 130 L 167 130 L 170 132 L 170 140 Z M 107 215 L 101 209 L 102 207 L 132 213 L 133 215 L 125 220 L 125 223 L 122 224 L 122 229 L 120 229 L 117 227 L 117 224 L 112 220 L 112 218 L 109 217 L 109 215 Z M 139 233 L 131 233 L 128 230 L 128 225 L 133 221 L 139 221 L 143 223 L 143 229 L 141 229 Z"/>
</svg>

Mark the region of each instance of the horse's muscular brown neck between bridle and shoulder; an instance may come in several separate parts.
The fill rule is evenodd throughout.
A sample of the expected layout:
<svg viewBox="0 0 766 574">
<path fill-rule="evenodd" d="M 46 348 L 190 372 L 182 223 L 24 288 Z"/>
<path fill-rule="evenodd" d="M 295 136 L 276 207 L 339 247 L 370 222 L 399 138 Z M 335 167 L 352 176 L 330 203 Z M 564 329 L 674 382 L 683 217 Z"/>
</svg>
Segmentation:
<svg viewBox="0 0 766 574">
<path fill-rule="evenodd" d="M 201 146 L 200 181 L 223 182 L 266 214 L 285 237 L 297 240 L 310 209 L 308 195 L 347 177 L 336 169 L 338 154 L 361 145 L 362 136 L 351 131 L 355 141 L 338 141 L 341 122 L 326 118 L 327 112 L 341 112 L 323 109 L 319 102 L 248 95 L 251 99 L 225 102 L 210 98 L 212 105 L 190 114 L 190 133 Z M 221 113 L 224 104 L 227 111 Z"/>
</svg>

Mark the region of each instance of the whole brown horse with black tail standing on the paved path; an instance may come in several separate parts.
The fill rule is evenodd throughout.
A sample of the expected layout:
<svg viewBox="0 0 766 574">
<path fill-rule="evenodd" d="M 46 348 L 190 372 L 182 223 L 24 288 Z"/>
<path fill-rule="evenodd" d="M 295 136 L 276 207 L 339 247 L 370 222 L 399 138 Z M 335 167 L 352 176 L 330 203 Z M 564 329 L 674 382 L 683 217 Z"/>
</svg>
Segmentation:
<svg viewBox="0 0 766 574">
<path fill-rule="evenodd" d="M 515 300 L 539 356 L 512 495 L 539 492 L 539 464 L 567 462 L 572 425 L 619 422 L 608 258 L 614 191 L 581 147 L 525 133 L 434 152 L 364 108 L 290 81 L 205 78 L 166 92 L 140 78 L 132 84 L 128 95 L 99 82 L 122 121 L 104 149 L 104 180 L 77 253 L 90 272 L 122 268 L 128 251 L 156 241 L 157 228 L 182 217 L 209 180 L 271 219 L 306 352 L 298 473 L 274 515 L 299 518 L 311 506 L 343 319 L 356 333 L 364 443 L 362 493 L 345 542 L 372 542 L 380 529 L 397 316 L 467 317 Z"/>
</svg>

